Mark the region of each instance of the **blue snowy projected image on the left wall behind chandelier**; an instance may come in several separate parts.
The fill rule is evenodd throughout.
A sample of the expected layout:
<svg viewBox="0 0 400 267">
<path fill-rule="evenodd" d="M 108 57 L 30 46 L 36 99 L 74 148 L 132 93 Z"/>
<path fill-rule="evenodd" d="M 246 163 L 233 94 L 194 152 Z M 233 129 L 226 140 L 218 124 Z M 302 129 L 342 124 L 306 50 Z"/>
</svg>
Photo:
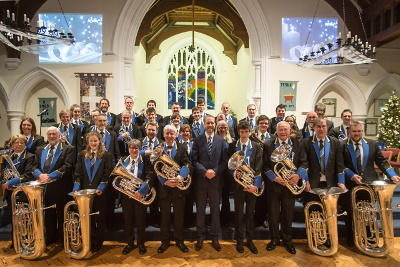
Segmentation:
<svg viewBox="0 0 400 267">
<path fill-rule="evenodd" d="M 68 21 L 65 21 L 65 18 Z M 69 27 L 75 37 L 71 45 L 44 47 L 39 52 L 41 63 L 101 63 L 103 44 L 103 15 L 98 14 L 39 14 L 40 26 L 50 24 L 57 30 L 61 27 L 68 32 Z"/>
</svg>

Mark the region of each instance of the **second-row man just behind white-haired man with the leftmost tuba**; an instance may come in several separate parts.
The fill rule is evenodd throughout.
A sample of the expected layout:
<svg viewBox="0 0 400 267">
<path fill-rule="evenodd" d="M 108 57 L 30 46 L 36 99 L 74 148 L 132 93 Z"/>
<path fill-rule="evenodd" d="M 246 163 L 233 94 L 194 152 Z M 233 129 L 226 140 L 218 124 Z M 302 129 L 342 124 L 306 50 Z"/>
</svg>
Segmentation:
<svg viewBox="0 0 400 267">
<path fill-rule="evenodd" d="M 59 113 L 59 117 L 61 123 L 53 126 L 57 127 L 61 133 L 60 141 L 73 146 L 76 152 L 82 151 L 84 148 L 84 140 L 80 126 L 71 123 L 71 116 L 67 109 L 62 109 Z"/>
</svg>

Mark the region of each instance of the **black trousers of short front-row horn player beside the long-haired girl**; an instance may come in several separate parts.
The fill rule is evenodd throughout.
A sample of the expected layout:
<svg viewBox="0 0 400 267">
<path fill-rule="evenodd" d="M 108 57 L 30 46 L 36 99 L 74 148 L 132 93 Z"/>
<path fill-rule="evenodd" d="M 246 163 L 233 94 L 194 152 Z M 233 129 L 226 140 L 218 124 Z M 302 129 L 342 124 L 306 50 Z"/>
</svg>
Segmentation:
<svg viewBox="0 0 400 267">
<path fill-rule="evenodd" d="M 144 245 L 147 206 L 139 201 L 128 197 L 125 194 L 121 195 L 122 212 L 125 221 L 125 235 L 128 245 L 133 246 L 135 241 L 135 227 L 137 229 L 137 244 Z M 135 220 L 135 222 L 134 222 Z"/>
</svg>

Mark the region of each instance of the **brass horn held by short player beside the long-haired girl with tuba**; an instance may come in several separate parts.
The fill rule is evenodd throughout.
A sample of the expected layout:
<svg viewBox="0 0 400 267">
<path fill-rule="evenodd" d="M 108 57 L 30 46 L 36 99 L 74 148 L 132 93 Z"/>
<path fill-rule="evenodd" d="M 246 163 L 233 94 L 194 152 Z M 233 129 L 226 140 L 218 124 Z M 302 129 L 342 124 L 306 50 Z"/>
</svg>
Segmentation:
<svg viewBox="0 0 400 267">
<path fill-rule="evenodd" d="M 142 184 L 144 183 L 141 179 L 133 176 L 131 172 L 129 172 L 125 166 L 122 164 L 122 161 L 119 160 L 117 165 L 115 165 L 114 170 L 111 172 L 111 175 L 116 175 L 114 178 L 113 187 L 124 193 L 130 198 L 135 198 L 135 193 L 140 189 Z M 156 197 L 156 190 L 151 188 L 147 195 L 143 196 L 141 199 L 137 200 L 144 205 L 150 205 Z"/>
</svg>

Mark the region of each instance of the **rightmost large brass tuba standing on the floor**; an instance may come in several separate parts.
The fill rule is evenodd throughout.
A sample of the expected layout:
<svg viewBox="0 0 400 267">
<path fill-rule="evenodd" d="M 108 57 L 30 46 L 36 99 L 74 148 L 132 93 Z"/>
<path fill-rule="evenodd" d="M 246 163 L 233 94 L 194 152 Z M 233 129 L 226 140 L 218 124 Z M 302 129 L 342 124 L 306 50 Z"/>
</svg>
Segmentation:
<svg viewBox="0 0 400 267">
<path fill-rule="evenodd" d="M 368 256 L 383 257 L 390 253 L 394 246 L 392 196 L 396 184 L 389 180 L 378 180 L 364 182 L 356 186 L 351 192 L 353 221 L 354 221 L 354 243 L 356 247 Z M 357 193 L 366 191 L 369 193 L 370 201 L 357 200 Z M 375 201 L 378 209 L 375 208 Z M 382 225 L 383 245 L 379 246 L 379 227 L 376 212 Z"/>
</svg>

